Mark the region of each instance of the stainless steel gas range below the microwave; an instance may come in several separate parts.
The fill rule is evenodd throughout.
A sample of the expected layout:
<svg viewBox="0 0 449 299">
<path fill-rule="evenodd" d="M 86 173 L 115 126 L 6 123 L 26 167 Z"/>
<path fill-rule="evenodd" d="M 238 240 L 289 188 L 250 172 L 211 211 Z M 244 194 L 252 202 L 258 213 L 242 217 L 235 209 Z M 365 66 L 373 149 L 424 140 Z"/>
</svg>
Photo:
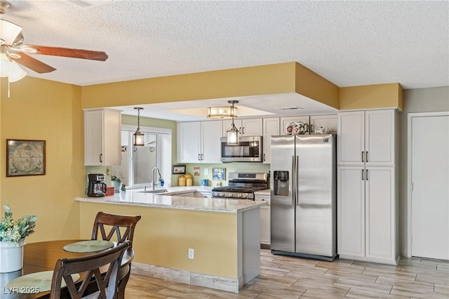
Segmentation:
<svg viewBox="0 0 449 299">
<path fill-rule="evenodd" d="M 213 187 L 212 197 L 254 200 L 254 192 L 268 189 L 267 173 L 229 173 L 229 184 Z"/>
</svg>

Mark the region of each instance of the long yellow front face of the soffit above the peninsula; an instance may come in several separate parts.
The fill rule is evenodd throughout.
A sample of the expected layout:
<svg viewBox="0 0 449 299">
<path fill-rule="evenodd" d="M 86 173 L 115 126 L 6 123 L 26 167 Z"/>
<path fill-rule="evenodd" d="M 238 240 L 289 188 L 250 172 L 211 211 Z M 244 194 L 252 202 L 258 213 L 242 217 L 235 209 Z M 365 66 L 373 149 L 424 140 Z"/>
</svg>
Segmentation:
<svg viewBox="0 0 449 299">
<path fill-rule="evenodd" d="M 295 63 L 223 69 L 83 87 L 83 108 L 295 91 Z"/>
</svg>

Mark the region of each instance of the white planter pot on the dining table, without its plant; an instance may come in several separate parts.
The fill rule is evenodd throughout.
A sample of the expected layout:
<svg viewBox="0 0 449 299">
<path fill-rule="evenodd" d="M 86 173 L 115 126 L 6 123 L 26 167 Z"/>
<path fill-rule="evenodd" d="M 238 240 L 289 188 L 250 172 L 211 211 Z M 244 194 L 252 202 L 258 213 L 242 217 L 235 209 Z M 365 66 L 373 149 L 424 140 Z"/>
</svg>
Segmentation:
<svg viewBox="0 0 449 299">
<path fill-rule="evenodd" d="M 0 273 L 22 269 L 24 245 L 24 239 L 19 241 L 19 245 L 13 242 L 0 242 Z"/>
</svg>

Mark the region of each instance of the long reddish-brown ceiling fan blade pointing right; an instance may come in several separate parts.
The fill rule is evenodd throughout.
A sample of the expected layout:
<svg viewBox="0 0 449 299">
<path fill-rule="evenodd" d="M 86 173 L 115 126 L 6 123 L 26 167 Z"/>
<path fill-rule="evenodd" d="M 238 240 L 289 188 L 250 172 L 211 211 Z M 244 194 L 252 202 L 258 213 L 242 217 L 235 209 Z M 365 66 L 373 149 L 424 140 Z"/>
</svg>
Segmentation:
<svg viewBox="0 0 449 299">
<path fill-rule="evenodd" d="M 53 56 L 63 56 L 70 58 L 81 58 L 89 60 L 107 60 L 108 56 L 103 51 L 89 51 L 81 49 L 71 49 L 71 48 L 58 48 L 58 47 L 48 47 L 48 46 L 36 46 L 36 45 L 23 45 L 20 46 L 22 51 L 40 54 L 40 55 L 53 55 Z M 37 53 L 34 53 L 35 51 Z"/>
</svg>

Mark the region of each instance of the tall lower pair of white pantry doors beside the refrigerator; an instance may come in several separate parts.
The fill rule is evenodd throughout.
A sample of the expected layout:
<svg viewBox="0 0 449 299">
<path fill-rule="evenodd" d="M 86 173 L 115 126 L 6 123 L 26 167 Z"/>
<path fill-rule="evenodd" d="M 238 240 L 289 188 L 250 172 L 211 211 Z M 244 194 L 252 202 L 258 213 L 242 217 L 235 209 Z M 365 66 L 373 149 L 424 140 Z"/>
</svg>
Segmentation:
<svg viewBox="0 0 449 299">
<path fill-rule="evenodd" d="M 395 171 L 394 167 L 338 167 L 340 258 L 397 264 Z"/>
</svg>

